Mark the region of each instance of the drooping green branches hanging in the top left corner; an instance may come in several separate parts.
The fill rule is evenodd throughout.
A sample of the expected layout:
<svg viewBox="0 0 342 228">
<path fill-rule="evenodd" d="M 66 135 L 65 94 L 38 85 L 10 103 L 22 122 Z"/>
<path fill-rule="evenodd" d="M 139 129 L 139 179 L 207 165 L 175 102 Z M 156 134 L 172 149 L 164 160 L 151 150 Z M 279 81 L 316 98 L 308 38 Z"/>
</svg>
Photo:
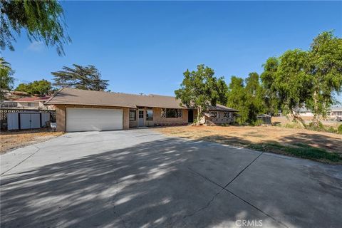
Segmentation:
<svg viewBox="0 0 342 228">
<path fill-rule="evenodd" d="M 56 46 L 63 55 L 63 44 L 71 42 L 66 33 L 63 8 L 51 1 L 0 1 L 0 47 L 14 51 L 13 42 L 25 30 L 29 41 L 42 41 L 46 46 Z"/>
</svg>

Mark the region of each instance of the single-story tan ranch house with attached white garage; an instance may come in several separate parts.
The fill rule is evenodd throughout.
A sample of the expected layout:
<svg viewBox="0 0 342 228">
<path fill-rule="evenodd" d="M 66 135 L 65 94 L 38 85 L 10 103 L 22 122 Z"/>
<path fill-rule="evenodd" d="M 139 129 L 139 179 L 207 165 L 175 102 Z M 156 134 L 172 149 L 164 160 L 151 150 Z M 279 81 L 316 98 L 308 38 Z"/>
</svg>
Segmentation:
<svg viewBox="0 0 342 228">
<path fill-rule="evenodd" d="M 192 123 L 197 111 L 172 96 L 108 93 L 63 88 L 48 99 L 56 107 L 56 130 L 119 130 Z M 217 105 L 209 109 L 212 123 L 230 123 L 237 110 Z M 232 113 L 232 114 L 229 114 Z M 224 120 L 227 119 L 227 120 Z"/>
</svg>

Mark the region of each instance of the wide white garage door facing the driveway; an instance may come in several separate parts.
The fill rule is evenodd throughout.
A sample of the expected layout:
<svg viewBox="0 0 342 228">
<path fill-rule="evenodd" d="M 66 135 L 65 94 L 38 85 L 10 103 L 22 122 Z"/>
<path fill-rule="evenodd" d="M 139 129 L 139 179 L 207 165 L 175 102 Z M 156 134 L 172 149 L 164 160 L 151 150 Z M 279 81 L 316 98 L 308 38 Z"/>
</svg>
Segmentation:
<svg viewBox="0 0 342 228">
<path fill-rule="evenodd" d="M 66 108 L 66 131 L 123 129 L 123 110 Z"/>
</svg>

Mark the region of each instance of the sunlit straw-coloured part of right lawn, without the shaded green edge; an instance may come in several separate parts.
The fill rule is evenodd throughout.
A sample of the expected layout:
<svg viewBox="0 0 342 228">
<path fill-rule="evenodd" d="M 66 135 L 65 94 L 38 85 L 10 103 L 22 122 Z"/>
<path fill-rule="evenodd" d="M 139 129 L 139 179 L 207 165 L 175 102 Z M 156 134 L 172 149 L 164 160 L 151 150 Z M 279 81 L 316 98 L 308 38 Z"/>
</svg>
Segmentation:
<svg viewBox="0 0 342 228">
<path fill-rule="evenodd" d="M 228 145 L 248 146 L 262 143 L 280 143 L 281 145 L 304 144 L 342 154 L 342 135 L 316 132 L 306 129 L 291 129 L 275 126 L 181 126 L 155 128 L 165 135 L 207 140 Z"/>
</svg>

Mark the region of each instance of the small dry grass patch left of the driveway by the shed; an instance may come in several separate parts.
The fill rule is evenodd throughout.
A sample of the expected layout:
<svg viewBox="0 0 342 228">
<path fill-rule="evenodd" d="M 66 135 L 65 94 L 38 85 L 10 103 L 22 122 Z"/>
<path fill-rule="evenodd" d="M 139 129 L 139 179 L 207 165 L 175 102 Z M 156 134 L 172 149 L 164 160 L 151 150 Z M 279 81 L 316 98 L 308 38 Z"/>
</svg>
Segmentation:
<svg viewBox="0 0 342 228">
<path fill-rule="evenodd" d="M 50 138 L 63 135 L 61 132 L 49 132 L 41 130 L 26 130 L 18 132 L 0 133 L 0 153 L 24 147 L 36 142 L 43 142 Z"/>
</svg>

